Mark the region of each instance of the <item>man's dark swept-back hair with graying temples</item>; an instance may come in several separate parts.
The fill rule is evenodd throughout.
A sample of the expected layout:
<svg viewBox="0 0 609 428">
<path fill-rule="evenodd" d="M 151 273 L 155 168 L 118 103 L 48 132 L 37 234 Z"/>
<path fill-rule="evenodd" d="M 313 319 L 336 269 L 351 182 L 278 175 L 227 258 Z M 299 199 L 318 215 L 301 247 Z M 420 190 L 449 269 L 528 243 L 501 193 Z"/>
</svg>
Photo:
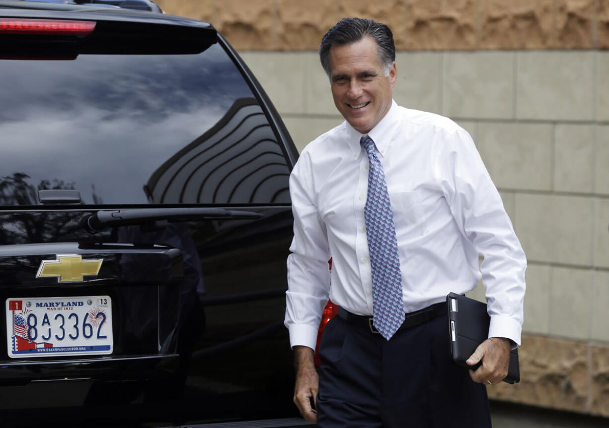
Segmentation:
<svg viewBox="0 0 609 428">
<path fill-rule="evenodd" d="M 328 30 L 319 46 L 319 59 L 328 77 L 330 76 L 330 48 L 343 46 L 370 36 L 375 40 L 379 62 L 385 75 L 389 75 L 391 64 L 395 61 L 395 43 L 393 33 L 385 24 L 372 19 L 343 18 L 336 26 Z"/>
</svg>

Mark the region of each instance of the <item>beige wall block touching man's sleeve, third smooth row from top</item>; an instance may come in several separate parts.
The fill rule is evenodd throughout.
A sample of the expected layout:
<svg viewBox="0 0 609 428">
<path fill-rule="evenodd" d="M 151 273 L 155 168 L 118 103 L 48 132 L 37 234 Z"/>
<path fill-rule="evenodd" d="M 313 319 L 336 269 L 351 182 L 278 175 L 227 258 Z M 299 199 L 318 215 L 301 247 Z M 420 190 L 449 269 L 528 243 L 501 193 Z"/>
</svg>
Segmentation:
<svg viewBox="0 0 609 428">
<path fill-rule="evenodd" d="M 527 259 L 590 266 L 592 201 L 516 193 L 516 235 Z"/>
</svg>

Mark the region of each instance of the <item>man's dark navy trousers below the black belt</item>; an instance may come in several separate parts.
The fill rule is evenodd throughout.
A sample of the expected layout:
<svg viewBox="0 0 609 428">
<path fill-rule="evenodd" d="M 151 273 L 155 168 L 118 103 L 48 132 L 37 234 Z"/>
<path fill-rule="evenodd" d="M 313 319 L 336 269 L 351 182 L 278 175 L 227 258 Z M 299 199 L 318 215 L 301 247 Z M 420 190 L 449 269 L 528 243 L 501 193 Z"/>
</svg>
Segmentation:
<svg viewBox="0 0 609 428">
<path fill-rule="evenodd" d="M 318 426 L 491 427 L 485 385 L 451 360 L 447 317 L 390 340 L 330 320 L 319 349 Z"/>
</svg>

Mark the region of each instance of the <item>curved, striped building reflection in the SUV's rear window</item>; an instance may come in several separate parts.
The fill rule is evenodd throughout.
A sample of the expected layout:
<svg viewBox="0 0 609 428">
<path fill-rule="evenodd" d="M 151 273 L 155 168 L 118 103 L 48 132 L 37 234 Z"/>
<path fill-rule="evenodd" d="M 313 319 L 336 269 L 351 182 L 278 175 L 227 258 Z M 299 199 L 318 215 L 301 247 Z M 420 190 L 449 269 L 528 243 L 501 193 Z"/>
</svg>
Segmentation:
<svg viewBox="0 0 609 428">
<path fill-rule="evenodd" d="M 255 99 L 240 98 L 155 171 L 145 190 L 152 203 L 282 202 L 288 175 L 262 109 Z"/>
</svg>

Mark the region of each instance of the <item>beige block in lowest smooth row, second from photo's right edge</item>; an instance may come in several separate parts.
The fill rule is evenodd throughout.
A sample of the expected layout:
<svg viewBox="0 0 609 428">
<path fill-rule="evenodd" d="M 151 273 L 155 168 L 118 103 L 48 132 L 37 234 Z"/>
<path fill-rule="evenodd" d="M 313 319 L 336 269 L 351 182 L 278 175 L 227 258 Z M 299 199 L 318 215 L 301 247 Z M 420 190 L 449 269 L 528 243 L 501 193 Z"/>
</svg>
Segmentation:
<svg viewBox="0 0 609 428">
<path fill-rule="evenodd" d="M 552 268 L 550 334 L 590 339 L 590 302 L 593 271 Z"/>
</svg>

